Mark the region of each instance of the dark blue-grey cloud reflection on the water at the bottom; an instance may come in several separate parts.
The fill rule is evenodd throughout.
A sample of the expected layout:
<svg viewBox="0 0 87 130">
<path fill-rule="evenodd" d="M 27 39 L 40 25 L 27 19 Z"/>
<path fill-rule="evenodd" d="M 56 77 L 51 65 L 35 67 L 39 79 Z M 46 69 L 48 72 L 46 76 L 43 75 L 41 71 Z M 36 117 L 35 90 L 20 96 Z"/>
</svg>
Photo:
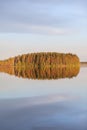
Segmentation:
<svg viewBox="0 0 87 130">
<path fill-rule="evenodd" d="M 0 100 L 0 129 L 86 130 L 87 111 L 79 100 L 70 95 Z"/>
</svg>

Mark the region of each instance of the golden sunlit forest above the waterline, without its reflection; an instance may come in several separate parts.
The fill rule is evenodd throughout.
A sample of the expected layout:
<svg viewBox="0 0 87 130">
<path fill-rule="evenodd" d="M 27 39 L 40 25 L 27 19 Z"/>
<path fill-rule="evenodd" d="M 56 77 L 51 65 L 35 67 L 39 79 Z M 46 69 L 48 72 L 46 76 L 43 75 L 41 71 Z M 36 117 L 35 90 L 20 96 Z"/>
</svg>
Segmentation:
<svg viewBox="0 0 87 130">
<path fill-rule="evenodd" d="M 0 66 L 65 67 L 80 66 L 77 55 L 71 53 L 40 52 L 15 56 L 0 61 Z"/>
</svg>

